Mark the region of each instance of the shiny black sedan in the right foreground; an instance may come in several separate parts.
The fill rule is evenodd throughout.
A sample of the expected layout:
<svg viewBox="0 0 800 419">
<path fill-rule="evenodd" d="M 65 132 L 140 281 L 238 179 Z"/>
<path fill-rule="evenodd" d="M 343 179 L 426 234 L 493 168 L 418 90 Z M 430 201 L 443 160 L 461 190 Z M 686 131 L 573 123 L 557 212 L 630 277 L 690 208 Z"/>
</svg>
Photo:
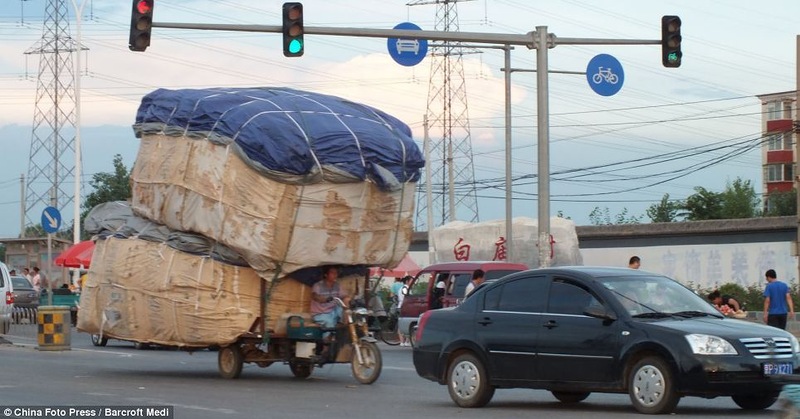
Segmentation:
<svg viewBox="0 0 800 419">
<path fill-rule="evenodd" d="M 425 312 L 417 339 L 417 373 L 446 384 L 462 407 L 526 387 L 566 403 L 628 393 L 651 414 L 671 412 L 683 396 L 766 409 L 778 379 L 800 373 L 791 334 L 727 318 L 670 278 L 626 268 L 509 275 L 458 307 Z"/>
</svg>

